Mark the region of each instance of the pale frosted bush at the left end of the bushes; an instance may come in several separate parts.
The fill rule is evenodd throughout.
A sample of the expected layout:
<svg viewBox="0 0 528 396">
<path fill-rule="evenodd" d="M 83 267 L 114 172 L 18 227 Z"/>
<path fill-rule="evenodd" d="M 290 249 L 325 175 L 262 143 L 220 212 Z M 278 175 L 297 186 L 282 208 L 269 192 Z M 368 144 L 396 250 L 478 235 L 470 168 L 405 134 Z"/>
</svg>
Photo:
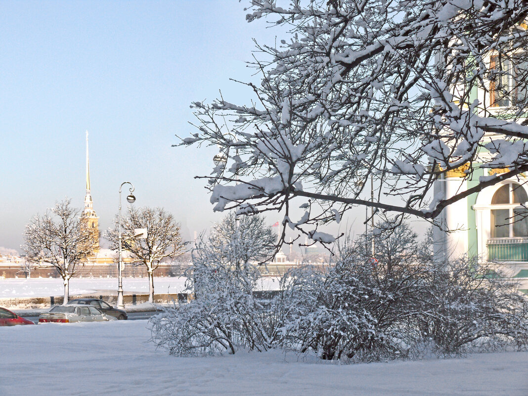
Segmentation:
<svg viewBox="0 0 528 396">
<path fill-rule="evenodd" d="M 156 343 L 175 355 L 235 353 L 247 346 L 248 338 L 258 338 L 252 324 L 259 303 L 251 293 L 257 272 L 250 267 L 235 272 L 224 262 L 195 263 L 187 288 L 196 298 L 153 319 Z M 251 341 L 258 349 L 259 342 Z"/>
</svg>

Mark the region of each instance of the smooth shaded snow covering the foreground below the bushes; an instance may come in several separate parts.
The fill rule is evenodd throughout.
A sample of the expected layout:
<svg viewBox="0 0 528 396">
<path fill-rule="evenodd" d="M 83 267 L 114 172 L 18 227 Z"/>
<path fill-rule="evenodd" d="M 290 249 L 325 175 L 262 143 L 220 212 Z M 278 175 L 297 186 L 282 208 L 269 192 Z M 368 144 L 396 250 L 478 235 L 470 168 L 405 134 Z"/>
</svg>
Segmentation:
<svg viewBox="0 0 528 396">
<path fill-rule="evenodd" d="M 528 352 L 361 365 L 168 356 L 146 320 L 0 327 L 0 395 L 526 395 Z"/>
</svg>

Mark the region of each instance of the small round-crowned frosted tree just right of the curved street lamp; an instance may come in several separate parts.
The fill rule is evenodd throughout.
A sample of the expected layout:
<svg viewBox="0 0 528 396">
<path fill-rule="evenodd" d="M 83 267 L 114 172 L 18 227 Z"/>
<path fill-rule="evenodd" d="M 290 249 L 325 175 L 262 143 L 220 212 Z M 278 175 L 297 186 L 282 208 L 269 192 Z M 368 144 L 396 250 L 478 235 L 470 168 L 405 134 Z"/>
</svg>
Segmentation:
<svg viewBox="0 0 528 396">
<path fill-rule="evenodd" d="M 135 229 L 146 228 L 147 238 L 132 239 Z M 119 219 L 114 219 L 114 228 L 106 232 L 110 249 L 119 248 Z M 121 218 L 123 248 L 130 253 L 133 265 L 144 265 L 148 275 L 148 301 L 154 302 L 154 271 L 164 258 L 174 258 L 183 254 L 184 245 L 180 235 L 180 225 L 171 213 L 162 208 L 128 207 Z"/>
</svg>

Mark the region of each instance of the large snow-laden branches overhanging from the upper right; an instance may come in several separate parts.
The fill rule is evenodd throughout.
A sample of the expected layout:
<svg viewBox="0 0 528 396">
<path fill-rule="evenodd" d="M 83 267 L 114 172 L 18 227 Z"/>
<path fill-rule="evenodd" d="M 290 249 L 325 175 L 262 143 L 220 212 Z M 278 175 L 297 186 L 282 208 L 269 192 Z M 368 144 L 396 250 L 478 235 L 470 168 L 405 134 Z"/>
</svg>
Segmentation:
<svg viewBox="0 0 528 396">
<path fill-rule="evenodd" d="M 227 163 L 203 176 L 215 211 L 282 210 L 284 225 L 327 243 L 317 225 L 352 205 L 433 221 L 528 171 L 525 0 L 250 3 L 249 22 L 289 33 L 257 45 L 252 101 L 194 102 L 196 133 L 180 143 L 221 147 Z M 504 172 L 433 196 L 447 172 L 467 179 L 477 167 Z M 292 205 L 306 209 L 300 219 Z"/>
</svg>

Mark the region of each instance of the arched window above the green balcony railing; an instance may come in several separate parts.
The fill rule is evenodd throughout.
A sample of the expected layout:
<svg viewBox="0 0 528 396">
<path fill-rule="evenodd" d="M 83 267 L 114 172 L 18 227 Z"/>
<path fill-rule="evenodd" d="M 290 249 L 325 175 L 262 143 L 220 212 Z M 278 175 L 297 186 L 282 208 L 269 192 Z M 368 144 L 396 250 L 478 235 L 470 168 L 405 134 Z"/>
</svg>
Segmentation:
<svg viewBox="0 0 528 396">
<path fill-rule="evenodd" d="M 521 204 L 528 201 L 523 186 L 508 183 L 500 187 L 492 198 L 492 238 L 528 237 L 528 210 Z"/>
</svg>

